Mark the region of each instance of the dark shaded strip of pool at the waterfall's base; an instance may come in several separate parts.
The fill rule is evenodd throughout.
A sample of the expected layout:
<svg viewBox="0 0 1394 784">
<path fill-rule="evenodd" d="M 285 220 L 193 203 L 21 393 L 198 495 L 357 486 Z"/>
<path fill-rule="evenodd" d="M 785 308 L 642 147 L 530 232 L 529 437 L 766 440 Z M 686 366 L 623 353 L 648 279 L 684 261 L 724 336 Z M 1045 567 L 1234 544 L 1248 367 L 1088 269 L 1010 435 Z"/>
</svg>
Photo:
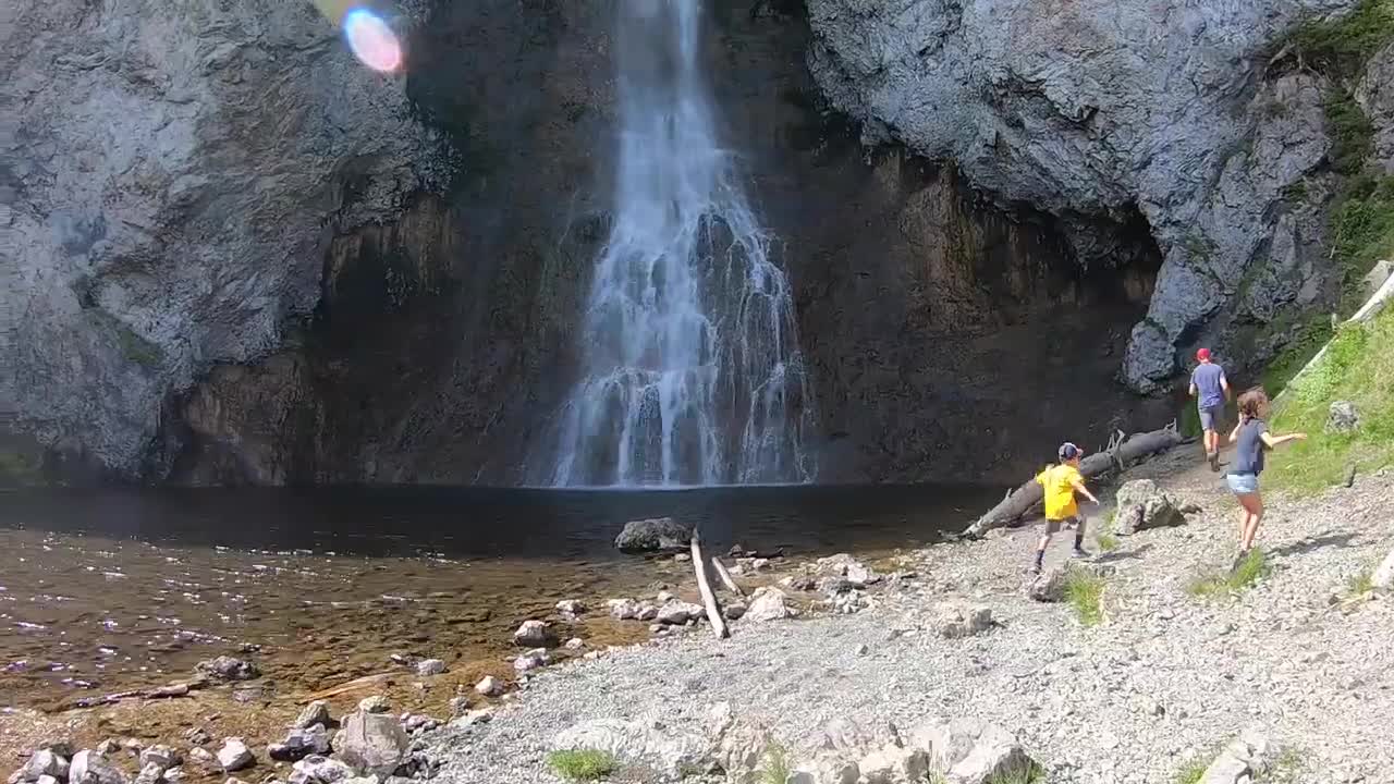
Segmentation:
<svg viewBox="0 0 1394 784">
<path fill-rule="evenodd" d="M 712 547 L 905 547 L 963 527 L 999 488 L 783 485 L 662 491 L 457 487 L 107 490 L 0 495 L 0 527 L 367 557 L 612 555 L 626 520 L 671 516 Z"/>
</svg>

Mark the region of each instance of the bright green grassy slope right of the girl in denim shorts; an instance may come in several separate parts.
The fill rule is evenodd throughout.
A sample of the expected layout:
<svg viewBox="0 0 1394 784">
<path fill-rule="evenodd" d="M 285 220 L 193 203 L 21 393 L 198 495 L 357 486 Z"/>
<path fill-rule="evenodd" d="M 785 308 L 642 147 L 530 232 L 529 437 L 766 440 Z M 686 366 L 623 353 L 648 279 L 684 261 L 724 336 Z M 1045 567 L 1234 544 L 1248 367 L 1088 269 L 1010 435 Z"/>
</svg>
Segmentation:
<svg viewBox="0 0 1394 784">
<path fill-rule="evenodd" d="M 1333 400 L 1355 405 L 1358 430 L 1326 432 Z M 1394 465 L 1394 308 L 1342 326 L 1322 360 L 1274 406 L 1270 425 L 1280 434 L 1308 434 L 1269 453 L 1263 477 L 1277 490 L 1310 495 L 1344 481 L 1348 466 L 1369 473 Z"/>
</svg>

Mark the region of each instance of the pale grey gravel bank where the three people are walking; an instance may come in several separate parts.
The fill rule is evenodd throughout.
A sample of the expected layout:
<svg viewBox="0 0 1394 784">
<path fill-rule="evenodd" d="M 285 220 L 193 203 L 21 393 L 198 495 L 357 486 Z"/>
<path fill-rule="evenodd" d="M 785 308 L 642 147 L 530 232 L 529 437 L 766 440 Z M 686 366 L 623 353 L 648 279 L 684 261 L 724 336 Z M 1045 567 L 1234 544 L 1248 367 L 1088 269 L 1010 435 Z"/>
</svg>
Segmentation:
<svg viewBox="0 0 1394 784">
<path fill-rule="evenodd" d="M 1032 529 L 931 547 L 913 555 L 914 587 L 856 615 L 736 624 L 728 642 L 698 633 L 546 671 L 492 723 L 438 734 L 438 780 L 556 781 L 546 744 L 577 721 L 698 728 L 708 704 L 729 700 L 769 717 L 796 757 L 836 717 L 905 727 L 965 716 L 1015 731 L 1050 781 L 1170 783 L 1257 724 L 1301 760 L 1294 783 L 1394 784 L 1394 601 L 1328 603 L 1394 547 L 1394 476 L 1273 504 L 1259 533 L 1271 576 L 1197 600 L 1186 582 L 1230 564 L 1236 523 L 1220 481 L 1193 463 L 1182 449 L 1129 476 L 1204 511 L 1097 558 L 1117 566 L 1098 626 L 1025 597 Z M 1057 541 L 1047 564 L 1068 547 Z M 934 607 L 952 597 L 990 604 L 999 625 L 940 638 Z"/>
</svg>

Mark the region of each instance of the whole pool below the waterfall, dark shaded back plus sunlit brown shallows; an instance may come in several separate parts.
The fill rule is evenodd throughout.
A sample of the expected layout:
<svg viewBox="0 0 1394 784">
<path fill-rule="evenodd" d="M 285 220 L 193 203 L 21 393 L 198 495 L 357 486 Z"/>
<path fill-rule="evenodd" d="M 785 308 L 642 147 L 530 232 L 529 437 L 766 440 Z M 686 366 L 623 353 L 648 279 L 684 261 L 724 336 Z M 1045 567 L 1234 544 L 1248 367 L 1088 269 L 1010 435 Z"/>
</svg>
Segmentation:
<svg viewBox="0 0 1394 784">
<path fill-rule="evenodd" d="M 241 650 L 252 651 L 270 684 L 247 700 L 298 699 L 379 674 L 393 667 L 392 654 L 445 658 L 460 684 L 482 672 L 509 675 L 513 628 L 551 615 L 559 598 L 597 605 L 647 594 L 655 583 L 691 583 L 690 565 L 615 551 L 626 520 L 696 522 L 712 551 L 740 543 L 782 547 L 792 557 L 875 555 L 956 530 L 998 494 L 944 487 L 11 492 L 0 497 L 0 707 L 71 707 L 185 678 L 197 661 Z M 559 633 L 629 642 L 647 628 L 597 612 Z"/>
</svg>

